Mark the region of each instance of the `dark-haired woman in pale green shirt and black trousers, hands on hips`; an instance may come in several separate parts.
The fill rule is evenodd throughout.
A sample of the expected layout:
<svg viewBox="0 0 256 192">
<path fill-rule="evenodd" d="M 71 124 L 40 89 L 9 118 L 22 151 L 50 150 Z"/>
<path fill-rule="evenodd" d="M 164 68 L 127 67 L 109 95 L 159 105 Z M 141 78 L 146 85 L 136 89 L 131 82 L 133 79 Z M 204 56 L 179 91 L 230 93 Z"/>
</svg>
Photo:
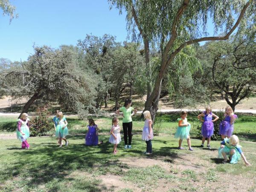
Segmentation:
<svg viewBox="0 0 256 192">
<path fill-rule="evenodd" d="M 131 113 L 133 111 L 133 113 Z M 131 107 L 131 99 L 125 100 L 125 105 L 120 109 L 116 110 L 116 114 L 123 116 L 123 131 L 124 131 L 124 140 L 125 140 L 125 148 L 131 148 L 131 130 L 132 130 L 132 119 L 131 116 L 137 113 L 137 110 Z M 129 137 L 127 143 L 127 135 Z"/>
</svg>

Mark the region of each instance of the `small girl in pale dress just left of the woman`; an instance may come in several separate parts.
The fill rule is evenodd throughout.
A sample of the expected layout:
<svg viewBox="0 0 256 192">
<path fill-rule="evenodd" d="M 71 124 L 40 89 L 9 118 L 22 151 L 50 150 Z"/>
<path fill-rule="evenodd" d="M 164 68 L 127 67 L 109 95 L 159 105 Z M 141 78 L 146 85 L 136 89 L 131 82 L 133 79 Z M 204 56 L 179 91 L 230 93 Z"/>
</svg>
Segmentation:
<svg viewBox="0 0 256 192">
<path fill-rule="evenodd" d="M 119 127 L 118 123 L 119 123 L 119 120 L 116 117 L 114 117 L 112 119 L 112 128 L 111 128 L 111 131 L 110 131 L 111 136 L 108 140 L 109 143 L 114 144 L 113 154 L 116 154 L 117 144 L 119 144 L 120 141 L 121 141 L 120 127 Z"/>
</svg>

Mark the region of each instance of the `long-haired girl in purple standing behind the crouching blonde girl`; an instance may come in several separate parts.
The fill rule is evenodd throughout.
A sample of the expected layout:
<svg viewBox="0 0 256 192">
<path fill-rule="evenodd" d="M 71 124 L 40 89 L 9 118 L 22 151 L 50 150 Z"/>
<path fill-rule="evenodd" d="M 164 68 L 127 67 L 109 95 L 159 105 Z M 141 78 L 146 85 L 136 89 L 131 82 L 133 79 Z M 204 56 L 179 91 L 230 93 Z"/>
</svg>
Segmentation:
<svg viewBox="0 0 256 192">
<path fill-rule="evenodd" d="M 237 115 L 234 114 L 233 109 L 228 106 L 225 109 L 225 119 L 220 123 L 219 135 L 224 139 L 225 137 L 230 138 L 234 131 L 234 122 L 237 119 Z"/>
</svg>

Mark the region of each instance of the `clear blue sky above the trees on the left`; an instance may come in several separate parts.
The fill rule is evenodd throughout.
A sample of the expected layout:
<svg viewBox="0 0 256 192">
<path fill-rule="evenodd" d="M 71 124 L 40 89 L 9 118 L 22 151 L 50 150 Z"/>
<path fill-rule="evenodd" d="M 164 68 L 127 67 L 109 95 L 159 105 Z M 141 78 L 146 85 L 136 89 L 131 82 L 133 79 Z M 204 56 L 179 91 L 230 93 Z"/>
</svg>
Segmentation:
<svg viewBox="0 0 256 192">
<path fill-rule="evenodd" d="M 127 38 L 125 15 L 109 10 L 107 0 L 10 0 L 19 17 L 9 24 L 0 11 L 0 58 L 26 61 L 33 45 L 76 45 L 86 34 Z M 212 35 L 211 24 L 208 27 Z"/>
</svg>

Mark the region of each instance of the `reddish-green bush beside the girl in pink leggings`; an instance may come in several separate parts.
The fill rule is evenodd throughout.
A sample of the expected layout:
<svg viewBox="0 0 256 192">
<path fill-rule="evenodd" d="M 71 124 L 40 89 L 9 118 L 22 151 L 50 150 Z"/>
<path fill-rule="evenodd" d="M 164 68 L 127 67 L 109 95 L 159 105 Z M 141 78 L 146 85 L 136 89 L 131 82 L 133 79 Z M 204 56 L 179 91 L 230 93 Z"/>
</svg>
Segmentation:
<svg viewBox="0 0 256 192">
<path fill-rule="evenodd" d="M 49 121 L 49 111 L 47 106 L 40 107 L 36 111 L 36 116 L 32 117 L 30 121 L 30 135 L 31 136 L 44 136 L 48 134 L 48 131 L 51 131 L 53 126 Z"/>
</svg>

